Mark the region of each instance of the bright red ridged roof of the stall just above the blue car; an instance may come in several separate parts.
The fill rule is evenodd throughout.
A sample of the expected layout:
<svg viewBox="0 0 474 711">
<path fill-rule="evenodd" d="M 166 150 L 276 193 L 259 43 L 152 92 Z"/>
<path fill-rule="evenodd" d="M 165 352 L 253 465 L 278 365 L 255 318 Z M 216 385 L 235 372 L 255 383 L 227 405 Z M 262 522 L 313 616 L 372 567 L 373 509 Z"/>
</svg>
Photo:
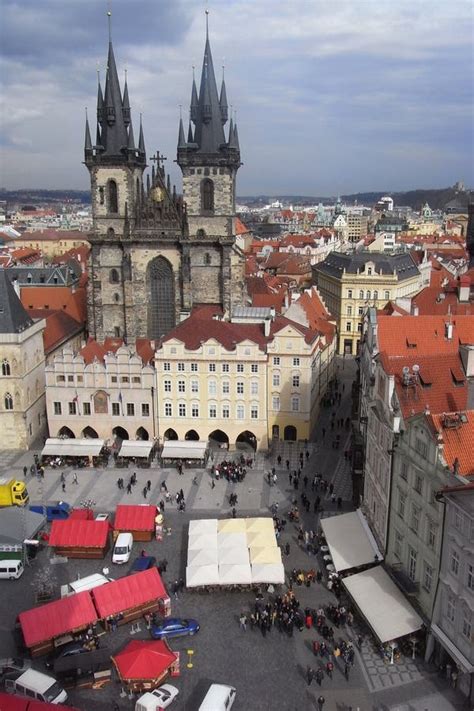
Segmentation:
<svg viewBox="0 0 474 711">
<path fill-rule="evenodd" d="M 91 590 L 91 595 L 100 618 L 131 610 L 150 600 L 168 598 L 156 568 L 149 568 L 141 573 L 126 575 L 113 583 L 100 585 Z"/>
</svg>

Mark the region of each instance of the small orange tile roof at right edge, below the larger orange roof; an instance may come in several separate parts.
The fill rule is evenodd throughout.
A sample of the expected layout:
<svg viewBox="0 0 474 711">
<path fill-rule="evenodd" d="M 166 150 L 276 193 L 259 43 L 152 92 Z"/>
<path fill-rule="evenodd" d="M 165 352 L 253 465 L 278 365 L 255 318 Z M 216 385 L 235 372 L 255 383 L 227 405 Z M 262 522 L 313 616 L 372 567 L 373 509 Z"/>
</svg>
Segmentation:
<svg viewBox="0 0 474 711">
<path fill-rule="evenodd" d="M 457 460 L 458 473 L 462 476 L 474 475 L 474 410 L 460 413 L 443 413 L 429 418 L 438 441 L 443 443 L 443 456 L 449 467 Z M 462 420 L 465 419 L 466 422 Z M 447 427 L 447 423 L 453 426 Z"/>
</svg>

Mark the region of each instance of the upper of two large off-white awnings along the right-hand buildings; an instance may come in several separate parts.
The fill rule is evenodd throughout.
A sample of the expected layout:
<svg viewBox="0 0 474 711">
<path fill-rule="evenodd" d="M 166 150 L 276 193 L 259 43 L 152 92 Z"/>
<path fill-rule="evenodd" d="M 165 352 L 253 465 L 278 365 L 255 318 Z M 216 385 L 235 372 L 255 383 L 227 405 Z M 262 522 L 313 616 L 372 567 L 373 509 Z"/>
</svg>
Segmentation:
<svg viewBox="0 0 474 711">
<path fill-rule="evenodd" d="M 329 552 L 337 572 L 373 563 L 382 553 L 360 509 L 321 520 Z"/>
</svg>

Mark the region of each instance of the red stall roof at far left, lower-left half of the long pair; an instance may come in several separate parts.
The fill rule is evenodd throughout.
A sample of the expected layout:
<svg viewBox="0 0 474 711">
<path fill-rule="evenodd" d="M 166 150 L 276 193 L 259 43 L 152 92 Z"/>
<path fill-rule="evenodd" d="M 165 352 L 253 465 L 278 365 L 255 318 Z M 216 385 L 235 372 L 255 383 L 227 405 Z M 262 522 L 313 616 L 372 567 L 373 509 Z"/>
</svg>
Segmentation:
<svg viewBox="0 0 474 711">
<path fill-rule="evenodd" d="M 88 591 L 20 612 L 18 618 L 27 647 L 86 627 L 98 619 Z"/>
</svg>

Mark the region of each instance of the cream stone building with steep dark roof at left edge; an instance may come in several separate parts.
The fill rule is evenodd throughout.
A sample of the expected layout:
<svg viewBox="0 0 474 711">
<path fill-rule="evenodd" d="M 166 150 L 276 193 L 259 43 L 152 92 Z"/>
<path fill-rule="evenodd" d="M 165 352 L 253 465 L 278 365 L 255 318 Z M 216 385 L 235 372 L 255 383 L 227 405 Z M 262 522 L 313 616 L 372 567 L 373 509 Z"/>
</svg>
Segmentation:
<svg viewBox="0 0 474 711">
<path fill-rule="evenodd" d="M 28 449 L 46 431 L 44 328 L 0 269 L 0 449 Z"/>
</svg>

